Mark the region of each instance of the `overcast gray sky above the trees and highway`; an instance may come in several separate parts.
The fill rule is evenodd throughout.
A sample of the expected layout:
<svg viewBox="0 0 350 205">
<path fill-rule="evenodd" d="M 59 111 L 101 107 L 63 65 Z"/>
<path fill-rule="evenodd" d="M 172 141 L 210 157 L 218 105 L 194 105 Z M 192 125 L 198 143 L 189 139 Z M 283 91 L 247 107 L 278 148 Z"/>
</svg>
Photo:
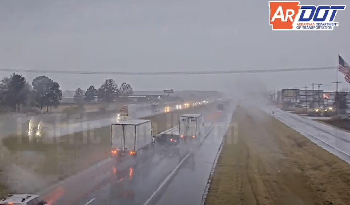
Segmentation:
<svg viewBox="0 0 350 205">
<path fill-rule="evenodd" d="M 349 1 L 301 1 L 330 3 Z M 337 66 L 338 52 L 350 62 L 349 20 L 350 7 L 338 12 L 334 31 L 272 31 L 264 0 L 2 0 L 0 67 L 151 72 Z M 23 74 L 30 82 L 38 75 Z M 315 82 L 333 90 L 336 71 L 48 76 L 64 90 L 99 86 L 106 78 L 135 90 L 230 90 L 246 80 L 271 89 Z M 348 87 L 341 74 L 339 80 Z"/>
</svg>

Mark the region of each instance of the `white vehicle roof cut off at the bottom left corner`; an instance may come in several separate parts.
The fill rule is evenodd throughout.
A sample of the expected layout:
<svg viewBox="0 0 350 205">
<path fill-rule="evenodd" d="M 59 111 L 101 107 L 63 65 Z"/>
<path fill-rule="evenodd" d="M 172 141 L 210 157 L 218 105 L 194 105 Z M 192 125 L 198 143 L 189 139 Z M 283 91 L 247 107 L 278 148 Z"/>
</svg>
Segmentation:
<svg viewBox="0 0 350 205">
<path fill-rule="evenodd" d="M 9 194 L 0 200 L 0 205 L 48 205 L 38 195 Z"/>
</svg>

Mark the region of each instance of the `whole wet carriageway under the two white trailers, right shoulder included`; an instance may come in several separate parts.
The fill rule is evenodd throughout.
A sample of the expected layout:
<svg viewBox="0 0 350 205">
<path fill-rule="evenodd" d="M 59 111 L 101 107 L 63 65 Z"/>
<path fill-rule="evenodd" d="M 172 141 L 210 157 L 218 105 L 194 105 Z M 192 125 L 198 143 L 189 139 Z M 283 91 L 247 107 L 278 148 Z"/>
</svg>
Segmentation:
<svg viewBox="0 0 350 205">
<path fill-rule="evenodd" d="M 156 145 L 136 160 L 109 159 L 41 195 L 50 205 L 199 204 L 229 123 L 219 112 L 212 121 L 214 128 L 205 123 L 208 135 L 201 142 Z"/>
</svg>

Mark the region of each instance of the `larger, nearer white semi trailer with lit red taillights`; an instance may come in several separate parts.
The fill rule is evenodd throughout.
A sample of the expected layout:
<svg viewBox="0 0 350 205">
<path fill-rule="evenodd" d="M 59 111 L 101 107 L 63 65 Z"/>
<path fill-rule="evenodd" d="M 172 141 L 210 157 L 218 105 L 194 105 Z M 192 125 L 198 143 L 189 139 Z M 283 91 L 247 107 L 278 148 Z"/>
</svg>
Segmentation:
<svg viewBox="0 0 350 205">
<path fill-rule="evenodd" d="M 111 125 L 111 156 L 132 155 L 154 145 L 151 120 L 126 120 Z"/>
</svg>

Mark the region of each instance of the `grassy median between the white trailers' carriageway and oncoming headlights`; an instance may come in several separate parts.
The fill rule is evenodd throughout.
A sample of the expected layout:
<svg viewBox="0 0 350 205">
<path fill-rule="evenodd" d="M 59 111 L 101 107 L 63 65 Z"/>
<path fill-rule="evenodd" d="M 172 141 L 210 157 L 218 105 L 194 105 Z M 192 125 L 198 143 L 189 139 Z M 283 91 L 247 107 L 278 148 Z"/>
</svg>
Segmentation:
<svg viewBox="0 0 350 205">
<path fill-rule="evenodd" d="M 141 119 L 151 120 L 153 130 L 160 133 L 178 125 L 180 115 L 197 113 L 199 110 L 205 110 L 204 106 L 213 105 L 175 110 Z M 62 180 L 110 157 L 110 130 L 110 126 L 105 126 L 57 138 L 48 139 L 43 136 L 38 142 L 29 140 L 27 133 L 9 136 L 2 140 L 2 145 L 8 150 L 6 162 L 2 160 L 2 166 L 5 163 L 15 163 L 47 179 L 48 183 Z M 28 155 L 28 152 L 33 154 L 29 160 L 23 156 Z"/>
</svg>

